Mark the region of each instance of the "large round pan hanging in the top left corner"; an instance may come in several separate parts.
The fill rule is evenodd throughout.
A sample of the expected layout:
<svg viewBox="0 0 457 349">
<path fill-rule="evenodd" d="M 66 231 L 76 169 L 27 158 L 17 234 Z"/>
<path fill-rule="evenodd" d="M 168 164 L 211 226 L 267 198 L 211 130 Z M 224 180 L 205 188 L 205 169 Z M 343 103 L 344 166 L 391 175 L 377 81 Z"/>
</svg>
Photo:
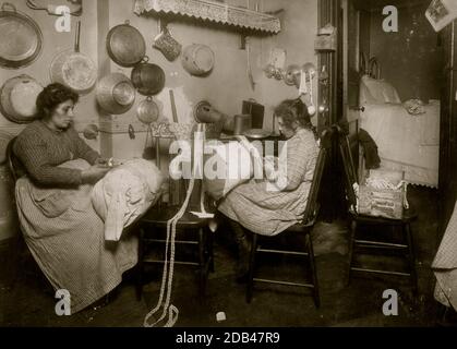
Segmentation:
<svg viewBox="0 0 457 349">
<path fill-rule="evenodd" d="M 38 57 L 41 48 L 43 34 L 38 24 L 13 4 L 4 2 L 0 11 L 0 65 L 10 69 L 26 67 Z"/>
</svg>

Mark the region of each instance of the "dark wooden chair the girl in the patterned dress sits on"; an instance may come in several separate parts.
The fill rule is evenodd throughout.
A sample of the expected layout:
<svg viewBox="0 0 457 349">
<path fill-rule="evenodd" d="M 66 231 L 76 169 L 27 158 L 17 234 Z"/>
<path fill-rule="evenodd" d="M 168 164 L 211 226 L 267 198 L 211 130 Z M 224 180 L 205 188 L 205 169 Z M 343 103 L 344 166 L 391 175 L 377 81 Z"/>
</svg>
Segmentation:
<svg viewBox="0 0 457 349">
<path fill-rule="evenodd" d="M 282 285 L 282 286 L 290 286 L 290 287 L 304 287 L 312 289 L 313 298 L 315 306 L 318 308 L 321 305 L 320 292 L 318 292 L 318 284 L 317 284 L 317 273 L 314 260 L 314 251 L 313 251 L 313 242 L 311 239 L 311 231 L 316 222 L 316 218 L 320 212 L 320 204 L 318 204 L 318 194 L 321 189 L 322 177 L 325 168 L 325 164 L 328 157 L 328 153 L 332 146 L 332 131 L 326 130 L 324 131 L 322 139 L 321 139 L 321 148 L 317 156 L 316 167 L 314 170 L 313 181 L 310 188 L 310 193 L 308 196 L 306 208 L 304 212 L 304 217 L 302 222 L 296 224 L 294 226 L 288 228 L 284 232 L 279 233 L 275 237 L 265 237 L 257 233 L 252 233 L 253 241 L 252 241 L 252 249 L 250 255 L 250 264 L 249 264 L 249 278 L 248 278 L 248 287 L 246 287 L 246 301 L 248 303 L 252 300 L 252 293 L 254 288 L 254 282 L 264 282 L 264 284 L 273 284 L 273 285 Z M 287 246 L 281 246 L 281 249 L 277 249 L 277 245 L 281 245 L 278 243 L 278 240 L 282 238 L 282 240 L 290 234 L 291 238 L 302 238 L 304 242 L 297 241 L 296 243 L 288 244 Z M 275 243 L 274 248 L 264 248 L 264 244 L 272 245 L 272 242 Z M 311 280 L 309 282 L 303 281 L 291 281 L 278 278 L 260 278 L 256 277 L 256 273 L 258 272 L 260 263 L 257 262 L 257 255 L 265 254 L 265 255 L 288 255 L 288 256 L 297 256 L 297 257 L 306 257 L 310 268 L 311 268 Z"/>
</svg>

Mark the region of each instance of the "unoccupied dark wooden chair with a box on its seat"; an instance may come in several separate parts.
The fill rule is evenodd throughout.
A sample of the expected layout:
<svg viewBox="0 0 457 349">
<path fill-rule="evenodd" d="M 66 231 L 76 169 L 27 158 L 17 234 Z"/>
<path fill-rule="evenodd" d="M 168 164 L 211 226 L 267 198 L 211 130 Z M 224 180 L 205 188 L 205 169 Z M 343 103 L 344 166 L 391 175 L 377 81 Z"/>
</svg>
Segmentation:
<svg viewBox="0 0 457 349">
<path fill-rule="evenodd" d="M 348 136 L 342 132 L 341 129 L 336 128 L 338 133 L 338 146 L 339 154 L 342 159 L 345 170 L 345 186 L 346 194 L 349 203 L 349 218 L 351 221 L 351 234 L 349 241 L 349 270 L 348 270 L 348 284 L 352 272 L 371 273 L 378 275 L 392 275 L 410 278 L 410 284 L 413 293 L 418 292 L 418 277 L 416 273 L 416 254 L 412 240 L 411 221 L 417 219 L 417 214 L 413 208 L 405 209 L 404 215 L 400 219 L 392 219 L 385 217 L 374 217 L 369 215 L 361 215 L 357 213 L 357 196 L 353 190 L 353 184 L 357 183 L 357 172 L 353 166 L 352 156 L 349 147 Z M 390 229 L 399 229 L 401 232 L 401 243 L 394 243 L 390 241 L 376 241 L 376 240 L 361 240 L 358 239 L 359 230 L 362 227 L 383 227 Z M 362 266 L 356 266 L 356 251 L 368 250 L 368 251 L 384 251 L 390 254 L 398 254 L 407 260 L 408 270 L 386 270 L 381 268 L 368 268 Z M 370 254 L 370 253 L 369 253 Z"/>
</svg>

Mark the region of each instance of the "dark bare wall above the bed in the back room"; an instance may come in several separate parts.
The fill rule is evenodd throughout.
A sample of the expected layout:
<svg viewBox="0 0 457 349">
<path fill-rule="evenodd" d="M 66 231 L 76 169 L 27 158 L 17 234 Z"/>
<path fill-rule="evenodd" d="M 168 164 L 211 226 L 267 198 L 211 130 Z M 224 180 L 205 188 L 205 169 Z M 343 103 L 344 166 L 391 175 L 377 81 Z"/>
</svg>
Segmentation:
<svg viewBox="0 0 457 349">
<path fill-rule="evenodd" d="M 370 56 L 377 58 L 381 77 L 397 88 L 402 101 L 440 98 L 442 52 L 424 16 L 429 3 L 398 7 L 398 33 L 383 31 L 382 9 L 371 13 Z"/>
</svg>

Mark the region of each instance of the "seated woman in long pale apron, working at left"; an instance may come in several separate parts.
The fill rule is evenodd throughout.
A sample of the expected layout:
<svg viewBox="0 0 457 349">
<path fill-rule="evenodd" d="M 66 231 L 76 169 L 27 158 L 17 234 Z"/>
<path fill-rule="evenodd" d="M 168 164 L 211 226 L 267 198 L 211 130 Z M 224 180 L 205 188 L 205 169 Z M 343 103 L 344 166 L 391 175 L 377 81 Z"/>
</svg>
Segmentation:
<svg viewBox="0 0 457 349">
<path fill-rule="evenodd" d="M 70 292 L 71 313 L 109 293 L 137 262 L 136 237 L 105 241 L 91 194 L 110 168 L 73 129 L 76 103 L 63 85 L 45 87 L 36 101 L 39 119 L 13 146 L 26 173 L 15 186 L 22 232 L 53 288 Z"/>
</svg>

